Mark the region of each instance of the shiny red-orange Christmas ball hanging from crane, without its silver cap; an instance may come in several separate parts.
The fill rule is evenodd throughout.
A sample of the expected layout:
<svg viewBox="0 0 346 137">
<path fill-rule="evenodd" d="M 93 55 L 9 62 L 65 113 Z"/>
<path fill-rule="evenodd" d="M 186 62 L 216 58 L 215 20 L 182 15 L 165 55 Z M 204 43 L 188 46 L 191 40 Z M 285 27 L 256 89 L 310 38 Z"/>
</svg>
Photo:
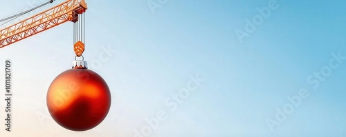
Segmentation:
<svg viewBox="0 0 346 137">
<path fill-rule="evenodd" d="M 103 78 L 87 69 L 66 70 L 51 83 L 47 106 L 62 127 L 85 131 L 99 125 L 111 106 L 111 93 Z"/>
</svg>

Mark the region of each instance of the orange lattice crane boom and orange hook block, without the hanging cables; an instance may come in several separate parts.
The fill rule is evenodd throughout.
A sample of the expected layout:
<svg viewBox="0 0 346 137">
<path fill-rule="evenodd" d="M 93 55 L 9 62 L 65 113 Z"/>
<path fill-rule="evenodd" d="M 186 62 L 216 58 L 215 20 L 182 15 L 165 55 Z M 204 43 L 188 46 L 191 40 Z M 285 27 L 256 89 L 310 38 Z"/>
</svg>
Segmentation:
<svg viewBox="0 0 346 137">
<path fill-rule="evenodd" d="M 84 0 L 67 0 L 58 6 L 0 30 L 0 48 L 26 39 L 39 32 L 44 32 L 67 21 L 75 23 L 78 21 L 78 14 L 83 14 L 86 10 L 87 6 Z M 84 43 L 82 46 L 84 48 Z"/>
</svg>

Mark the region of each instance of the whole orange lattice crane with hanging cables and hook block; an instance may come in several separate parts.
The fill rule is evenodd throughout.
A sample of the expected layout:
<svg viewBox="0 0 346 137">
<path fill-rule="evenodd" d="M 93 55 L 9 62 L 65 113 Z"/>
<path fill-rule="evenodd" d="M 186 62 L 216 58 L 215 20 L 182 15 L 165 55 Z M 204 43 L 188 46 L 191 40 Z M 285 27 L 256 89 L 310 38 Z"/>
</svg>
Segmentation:
<svg viewBox="0 0 346 137">
<path fill-rule="evenodd" d="M 47 3 L 53 3 L 55 0 L 50 0 Z M 38 6 L 38 7 L 41 7 Z M 28 12 L 37 9 L 33 8 Z M 0 48 L 4 48 L 12 43 L 16 43 L 30 36 L 44 32 L 48 29 L 54 28 L 57 25 L 71 21 L 73 25 L 73 50 L 76 56 L 82 56 L 84 52 L 84 35 L 85 35 L 85 15 L 87 5 L 84 0 L 67 0 L 59 5 L 45 10 L 39 14 L 35 14 L 33 17 L 19 21 L 7 28 L 0 30 Z M 8 19 L 14 19 L 27 12 L 2 19 L 5 21 Z"/>
</svg>

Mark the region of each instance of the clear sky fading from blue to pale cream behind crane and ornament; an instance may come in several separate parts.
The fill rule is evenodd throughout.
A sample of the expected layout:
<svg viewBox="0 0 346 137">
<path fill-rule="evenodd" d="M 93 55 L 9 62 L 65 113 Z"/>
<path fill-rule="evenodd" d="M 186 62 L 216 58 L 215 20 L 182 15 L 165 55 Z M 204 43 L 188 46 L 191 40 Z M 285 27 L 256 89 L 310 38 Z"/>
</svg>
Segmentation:
<svg viewBox="0 0 346 137">
<path fill-rule="evenodd" d="M 160 110 L 168 117 L 152 137 L 345 136 L 346 64 L 332 70 L 317 89 L 307 77 L 328 65 L 331 53 L 346 56 L 346 1 L 277 0 L 279 8 L 240 43 L 235 30 L 244 30 L 245 19 L 259 14 L 256 8 L 268 1 L 168 0 L 156 14 L 147 0 L 86 1 L 84 57 L 111 89 L 109 115 L 98 127 L 75 132 L 48 114 L 47 89 L 74 58 L 73 23 L 64 23 L 1 48 L 1 66 L 12 60 L 15 94 L 13 132 L 2 125 L 1 136 L 132 137 L 147 125 L 145 118 Z M 44 2 L 0 0 L 0 18 Z M 111 60 L 91 66 L 108 46 L 117 51 Z M 196 74 L 206 81 L 171 112 L 165 99 Z M 275 118 L 275 108 L 289 103 L 286 97 L 300 88 L 309 90 L 309 98 L 271 132 L 266 118 Z M 1 119 L 4 114 L 0 109 Z"/>
</svg>

